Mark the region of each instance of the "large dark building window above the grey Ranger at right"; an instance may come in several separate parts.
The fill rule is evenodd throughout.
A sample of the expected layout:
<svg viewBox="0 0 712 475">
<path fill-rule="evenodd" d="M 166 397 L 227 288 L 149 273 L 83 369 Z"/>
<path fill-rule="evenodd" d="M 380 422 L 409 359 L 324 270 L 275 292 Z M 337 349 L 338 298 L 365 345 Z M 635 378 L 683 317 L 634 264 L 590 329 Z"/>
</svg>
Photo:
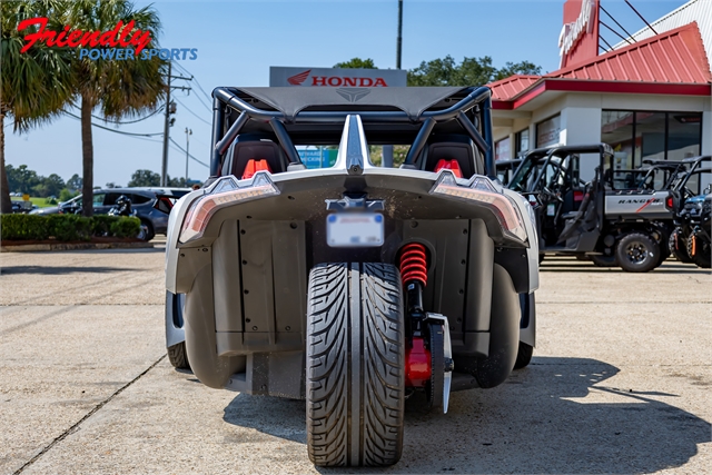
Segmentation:
<svg viewBox="0 0 712 475">
<path fill-rule="evenodd" d="M 613 147 L 614 168 L 631 169 L 644 160 L 682 160 L 700 155 L 701 112 L 603 110 L 601 141 Z"/>
</svg>

